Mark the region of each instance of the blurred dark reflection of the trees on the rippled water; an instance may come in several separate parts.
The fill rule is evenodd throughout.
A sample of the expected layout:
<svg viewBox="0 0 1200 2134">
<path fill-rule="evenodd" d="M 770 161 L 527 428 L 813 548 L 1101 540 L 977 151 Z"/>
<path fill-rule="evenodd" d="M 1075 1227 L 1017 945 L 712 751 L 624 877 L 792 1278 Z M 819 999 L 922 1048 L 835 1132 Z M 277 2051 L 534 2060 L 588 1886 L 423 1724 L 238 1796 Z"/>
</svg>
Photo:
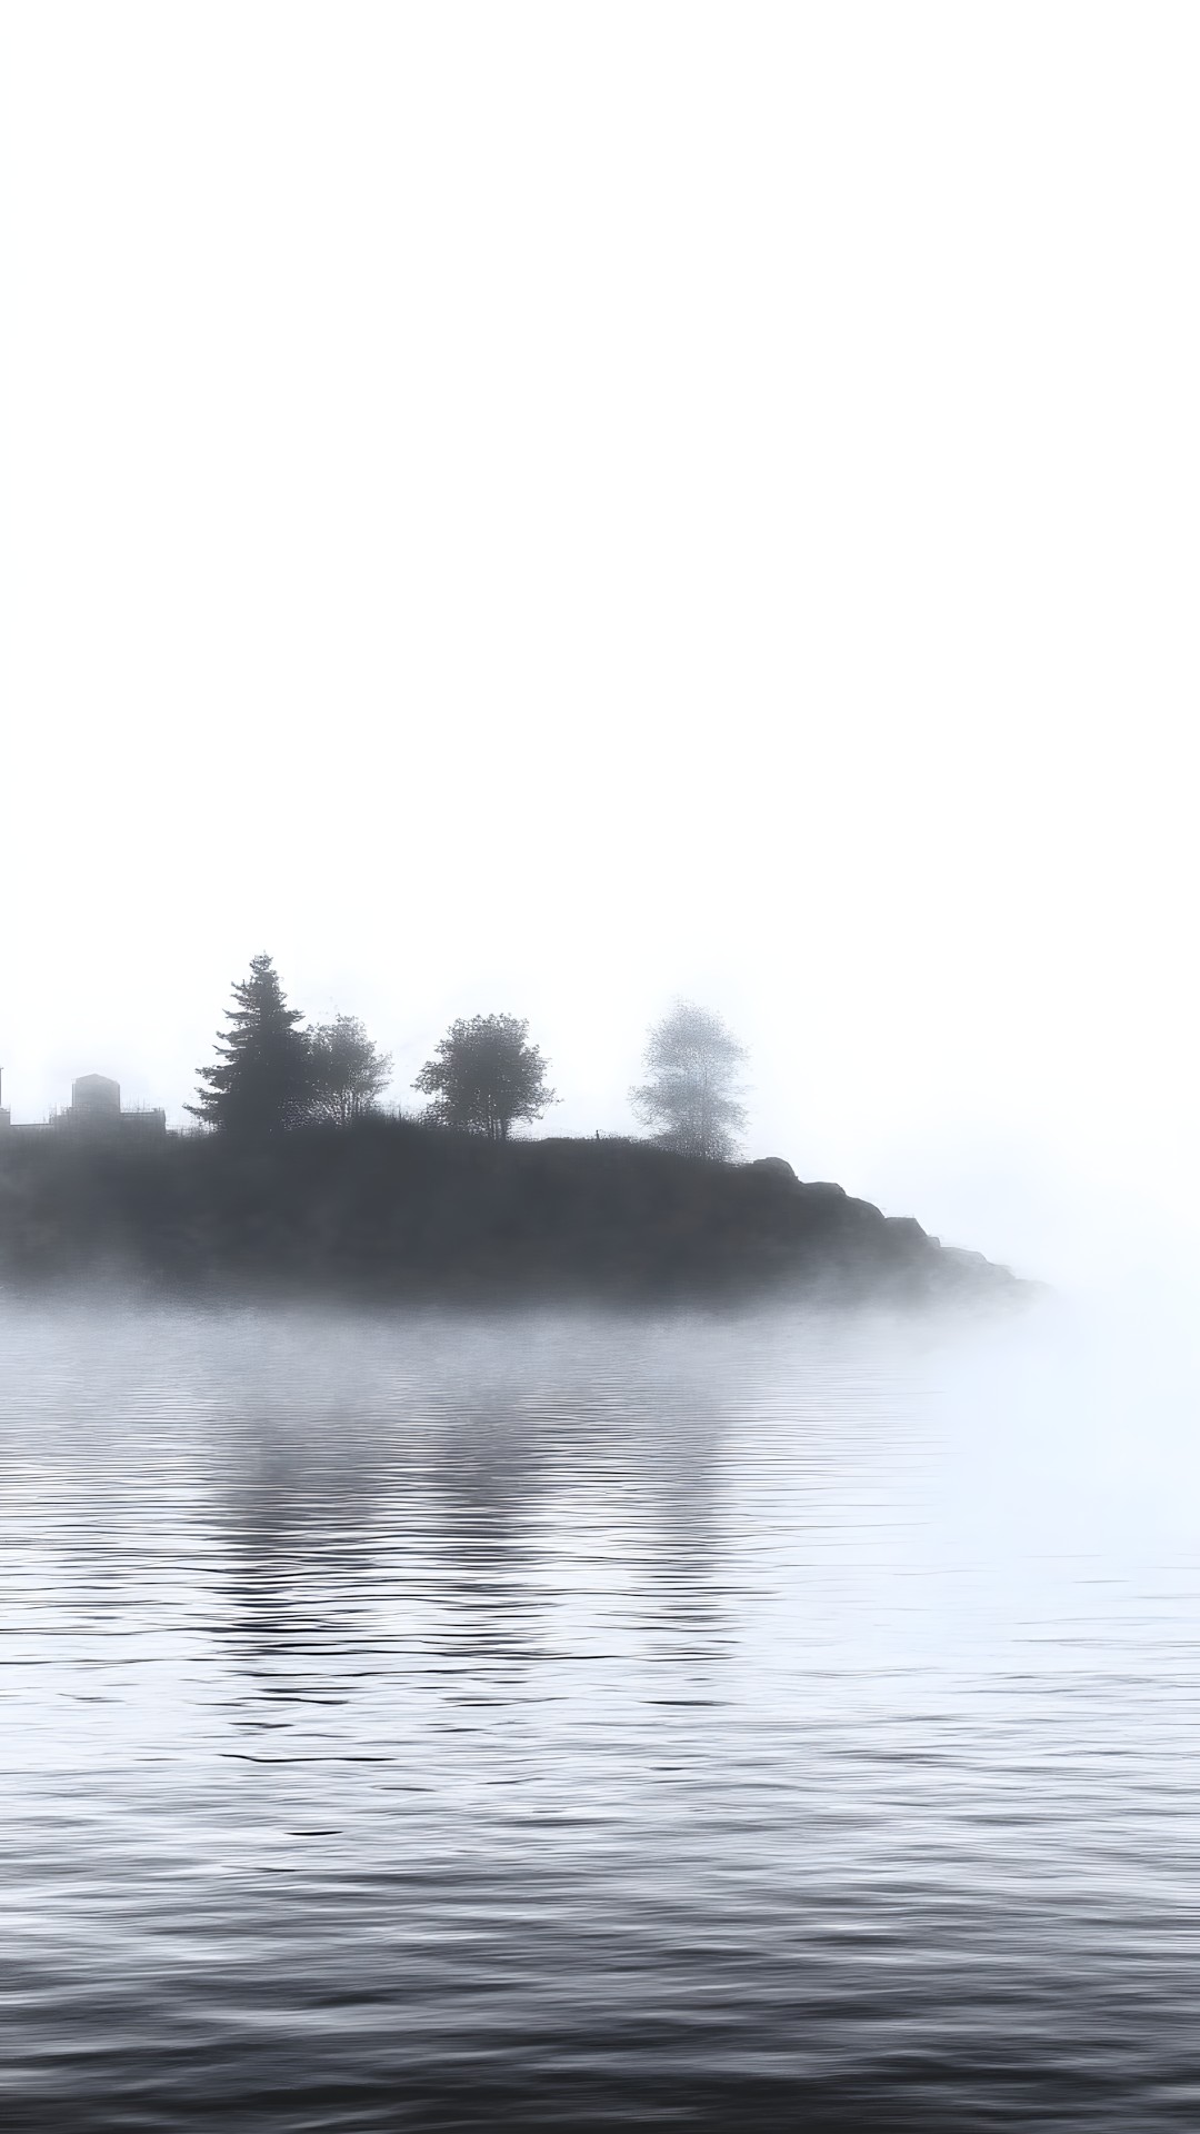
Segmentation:
<svg viewBox="0 0 1200 2134">
<path fill-rule="evenodd" d="M 263 1694 L 386 1671 L 515 1688 L 596 1652 L 713 1658 L 728 1400 L 675 1344 L 540 1329 L 408 1353 L 401 1394 L 344 1387 L 222 1434 L 224 1635 Z M 683 1368 L 681 1368 L 683 1364 Z"/>
</svg>

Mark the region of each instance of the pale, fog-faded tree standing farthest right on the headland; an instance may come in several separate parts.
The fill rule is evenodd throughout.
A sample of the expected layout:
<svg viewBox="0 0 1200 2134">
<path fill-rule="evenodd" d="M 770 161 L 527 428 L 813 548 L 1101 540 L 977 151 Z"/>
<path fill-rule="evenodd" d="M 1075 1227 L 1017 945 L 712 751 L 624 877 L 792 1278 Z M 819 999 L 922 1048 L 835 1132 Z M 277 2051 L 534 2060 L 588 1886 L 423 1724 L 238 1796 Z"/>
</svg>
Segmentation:
<svg viewBox="0 0 1200 2134">
<path fill-rule="evenodd" d="M 634 1116 L 658 1129 L 656 1142 L 664 1148 L 688 1157 L 732 1157 L 745 1127 L 735 1082 L 743 1058 L 743 1046 L 720 1016 L 681 1001 L 649 1033 L 647 1080 L 630 1090 Z"/>
</svg>

